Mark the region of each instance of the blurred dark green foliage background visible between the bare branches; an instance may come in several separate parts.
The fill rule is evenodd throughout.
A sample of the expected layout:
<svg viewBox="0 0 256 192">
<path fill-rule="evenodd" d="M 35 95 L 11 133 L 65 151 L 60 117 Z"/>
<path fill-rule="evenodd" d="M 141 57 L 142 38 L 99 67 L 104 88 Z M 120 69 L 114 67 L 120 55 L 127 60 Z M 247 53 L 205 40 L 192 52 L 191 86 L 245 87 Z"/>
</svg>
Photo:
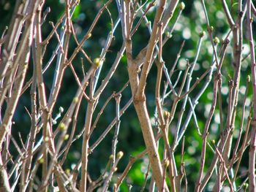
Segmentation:
<svg viewBox="0 0 256 192">
<path fill-rule="evenodd" d="M 95 16 L 97 15 L 97 12 L 99 9 L 103 6 L 103 4 L 106 1 L 92 1 L 92 0 L 81 0 L 80 4 L 76 7 L 75 12 L 72 16 L 72 22 L 73 26 L 75 28 L 78 40 L 82 39 L 83 36 L 88 31 L 89 27 L 91 26 L 91 23 L 93 22 Z M 144 1 L 142 1 L 144 2 Z M 163 49 L 163 59 L 165 61 L 165 65 L 170 70 L 173 66 L 174 61 L 176 60 L 176 55 L 178 53 L 178 50 L 181 47 L 181 42 L 186 40 L 184 49 L 181 52 L 181 58 L 178 61 L 178 67 L 176 68 L 176 71 L 173 74 L 172 80 L 173 82 L 176 81 L 178 77 L 178 72 L 182 71 L 181 79 L 184 74 L 184 69 L 186 64 L 186 60 L 188 59 L 190 63 L 195 58 L 195 53 L 197 50 L 197 43 L 199 40 L 199 34 L 200 31 L 207 31 L 206 28 L 206 19 L 205 15 L 203 13 L 203 7 L 200 3 L 200 1 L 184 1 L 186 4 L 186 8 L 184 9 L 184 12 L 181 15 L 181 18 L 178 20 L 178 23 L 176 24 L 176 28 L 173 31 L 173 37 L 167 42 Z M 0 34 L 4 31 L 5 26 L 8 26 L 10 23 L 10 18 L 12 17 L 13 9 L 14 9 L 15 1 L 14 0 L 0 0 Z M 228 4 L 231 8 L 231 13 L 233 17 L 236 19 L 237 15 L 237 4 L 236 1 L 233 1 L 233 4 Z M 53 21 L 53 23 L 56 23 L 57 20 L 61 17 L 61 15 L 64 13 L 64 1 L 48 1 L 46 0 L 44 10 L 47 9 L 47 7 L 50 7 L 50 13 L 48 14 L 46 18 L 46 22 L 42 25 L 42 36 L 43 38 L 47 37 L 49 32 L 52 30 L 52 27 L 48 23 L 48 21 Z M 227 32 L 229 31 L 229 26 L 227 25 L 227 20 L 225 18 L 225 13 L 222 9 L 222 4 L 220 1 L 206 1 L 206 7 L 208 10 L 208 17 L 211 23 L 211 26 L 214 26 L 214 37 L 218 37 L 220 39 L 220 42 L 222 42 L 222 39 L 225 39 Z M 118 17 L 118 12 L 116 8 L 116 4 L 113 1 L 113 3 L 110 4 L 108 7 L 109 11 L 111 12 L 111 17 L 113 19 L 113 22 Z M 148 19 L 151 20 L 151 23 L 153 23 L 152 18 L 154 18 L 155 9 L 152 9 L 152 11 L 148 12 Z M 176 9 L 176 12 L 173 16 L 173 19 L 170 20 L 169 26 L 172 26 L 174 19 L 178 15 L 178 9 Z M 138 19 L 137 19 L 138 20 Z M 105 44 L 105 39 L 108 36 L 108 33 L 111 30 L 111 22 L 110 22 L 110 15 L 108 12 L 103 12 L 102 16 L 99 18 L 99 22 L 94 28 L 94 31 L 92 33 L 91 39 L 86 41 L 85 45 L 83 45 L 84 50 L 86 50 L 86 53 L 91 57 L 93 60 L 94 58 L 99 57 L 99 54 L 102 51 L 102 47 Z M 60 29 L 58 31 L 60 33 Z M 99 77 L 99 83 L 103 80 L 103 77 L 105 77 L 105 74 L 108 73 L 108 70 L 110 69 L 110 66 L 113 64 L 113 61 L 116 58 L 116 54 L 118 53 L 118 50 L 120 50 L 120 47 L 122 45 L 123 39 L 121 35 L 121 26 L 118 25 L 118 28 L 114 34 L 114 40 L 110 45 L 109 52 L 106 55 L 105 63 L 102 66 L 102 73 Z M 231 36 L 232 37 L 232 36 Z M 244 52 L 243 55 L 246 55 L 249 53 L 249 47 L 246 44 L 246 31 L 244 30 Z M 146 28 L 145 23 L 142 23 L 142 25 L 138 28 L 138 31 L 135 33 L 134 37 L 132 37 L 133 42 L 133 51 L 134 55 L 137 55 L 139 51 L 146 46 L 146 42 L 148 42 L 149 34 L 148 30 Z M 45 53 L 44 58 L 44 64 L 46 64 L 50 58 L 50 56 L 53 54 L 53 50 L 56 48 L 56 45 L 58 44 L 58 41 L 56 38 L 53 38 L 48 45 L 48 49 Z M 71 41 L 69 42 L 69 55 L 75 50 L 75 41 L 73 38 L 71 38 Z M 220 45 L 218 46 L 219 50 Z M 206 71 L 206 69 L 209 68 L 211 64 L 211 55 L 212 55 L 212 48 L 211 48 L 211 42 L 208 38 L 208 35 L 204 37 L 202 48 L 200 50 L 200 55 L 197 60 L 197 64 L 195 66 L 195 72 L 192 75 L 192 84 L 195 82 L 196 77 L 200 77 L 203 72 Z M 78 76 L 80 78 L 83 77 L 83 70 L 82 70 L 82 64 L 80 62 L 80 57 L 83 57 L 82 54 L 78 54 L 78 56 L 75 58 L 75 61 L 73 62 L 73 66 L 75 67 L 76 72 L 78 73 Z M 227 97 L 228 97 L 228 85 L 227 82 L 230 80 L 230 77 L 233 77 L 233 65 L 232 65 L 232 39 L 230 38 L 230 45 L 227 49 L 227 56 L 225 58 L 223 67 L 222 67 L 222 108 L 224 112 L 224 120 L 227 114 Z M 83 67 L 87 70 L 89 69 L 89 64 L 86 61 L 85 58 L 83 58 Z M 102 108 L 105 101 L 108 99 L 108 97 L 113 93 L 113 91 L 120 91 L 125 82 L 128 80 L 128 74 L 127 74 L 127 63 L 126 63 L 126 55 L 121 58 L 121 64 L 118 65 L 117 72 L 113 75 L 113 78 L 110 80 L 110 83 L 108 84 L 107 88 L 105 88 L 105 91 L 102 93 L 102 96 L 99 99 L 99 104 L 94 112 L 94 120 L 97 116 L 97 113 Z M 53 64 L 50 66 L 50 69 L 44 74 L 44 80 L 46 85 L 46 91 L 50 93 L 50 87 L 51 83 L 53 81 L 53 72 L 55 69 L 56 59 L 53 61 Z M 185 67 L 184 67 L 185 66 Z M 26 80 L 29 80 L 32 76 L 32 63 L 29 64 L 29 73 L 26 76 Z M 241 123 L 241 106 L 242 101 L 244 99 L 244 90 L 246 85 L 246 76 L 250 74 L 249 70 L 249 60 L 245 60 L 241 67 L 241 88 L 240 88 L 240 95 L 239 95 L 239 101 L 237 106 L 237 118 L 236 118 L 236 128 L 233 131 L 234 135 L 234 142 L 233 145 L 236 143 L 236 137 L 238 136 L 238 129 Z M 156 76 L 157 76 L 157 67 L 153 66 L 151 69 L 151 72 L 148 76 L 148 82 L 146 87 L 146 96 L 147 96 L 147 104 L 148 104 L 148 112 L 152 119 L 154 119 L 154 110 L 155 110 L 155 102 L 154 102 L 154 88 L 155 88 L 155 82 L 156 82 Z M 165 80 L 165 78 L 164 78 Z M 61 92 L 59 93 L 58 101 L 56 103 L 56 107 L 54 108 L 53 115 L 57 114 L 59 112 L 59 107 L 63 107 L 64 110 L 67 110 L 69 107 L 69 104 L 72 101 L 73 96 L 75 95 L 75 91 L 78 88 L 77 83 L 75 82 L 75 78 L 73 77 L 73 74 L 71 72 L 71 69 L 67 69 L 64 74 L 64 81 L 62 82 Z M 162 83 L 162 88 L 164 84 Z M 178 82 L 177 87 L 181 85 L 181 80 Z M 197 85 L 197 88 L 195 88 L 194 91 L 189 95 L 190 98 L 196 95 L 196 93 L 200 90 L 202 87 L 203 82 L 200 82 L 199 85 Z M 199 100 L 199 104 L 197 105 L 195 112 L 197 114 L 197 123 L 200 127 L 200 131 L 203 131 L 203 127 L 206 122 L 206 118 L 208 117 L 208 112 L 211 107 L 211 101 L 212 101 L 212 91 L 213 91 L 213 84 L 211 83 L 208 88 L 206 89 L 206 92 L 203 94 L 203 96 Z M 249 104 L 250 104 L 250 96 L 252 95 L 252 90 L 249 90 L 249 97 L 246 101 L 246 118 L 249 114 Z M 131 91 L 129 87 L 125 89 L 125 91 L 122 93 L 121 97 L 121 107 L 124 107 L 124 104 L 127 103 L 127 101 L 131 97 Z M 172 96 L 167 97 L 165 101 L 165 108 L 167 110 L 170 110 L 171 104 L 172 104 Z M 170 125 L 170 143 L 172 143 L 173 140 L 173 133 L 176 129 L 176 123 L 178 120 L 178 112 L 181 109 L 182 101 L 178 104 L 178 108 L 176 110 L 176 115 L 173 120 L 173 123 Z M 116 103 L 115 99 L 112 99 L 110 101 L 110 104 L 105 108 L 105 111 L 102 114 L 102 117 L 99 119 L 99 123 L 97 125 L 97 128 L 95 129 L 94 133 L 91 135 L 90 139 L 90 145 L 92 145 L 100 134 L 105 130 L 105 128 L 109 125 L 109 123 L 115 118 L 116 116 L 116 109 L 115 109 Z M 23 142 L 26 140 L 26 135 L 29 133 L 30 128 L 30 118 L 28 113 L 26 112 L 26 109 L 30 110 L 30 96 L 29 96 L 29 90 L 26 91 L 26 93 L 21 96 L 20 101 L 18 103 L 18 109 L 15 112 L 14 122 L 12 128 L 12 135 L 15 136 L 15 139 L 20 144 L 20 140 L 18 137 L 18 133 L 20 133 L 23 137 Z M 184 120 L 187 118 L 187 112 L 189 109 L 189 103 L 187 103 L 186 106 L 186 112 L 184 113 Z M 80 132 L 80 130 L 83 128 L 84 118 L 86 113 L 86 102 L 83 101 L 82 107 L 80 109 L 79 115 L 78 115 L 78 126 L 76 130 L 76 134 Z M 1 114 L 3 115 L 3 114 Z M 54 118 L 54 117 L 53 117 Z M 183 120 L 183 122 L 184 122 Z M 225 123 L 225 122 L 224 122 Z M 225 125 L 224 125 L 225 126 Z M 56 126 L 54 127 L 56 128 Z M 96 180 L 97 177 L 102 173 L 102 171 L 105 169 L 105 166 L 108 162 L 108 157 L 111 154 L 111 145 L 112 145 L 112 139 L 113 139 L 113 132 L 114 128 L 110 131 L 110 133 L 105 137 L 105 139 L 102 141 L 102 143 L 94 150 L 94 152 L 89 156 L 89 174 L 91 176 L 92 180 Z M 41 133 L 40 133 L 41 134 Z M 40 135 L 39 134 L 39 135 Z M 39 138 L 38 135 L 38 138 Z M 200 162 L 200 147 L 202 145 L 202 139 L 197 134 L 197 128 L 195 126 L 194 120 L 190 120 L 189 127 L 187 128 L 187 132 L 185 134 L 185 155 L 184 155 L 184 161 L 185 161 L 185 169 L 187 172 L 187 180 L 189 184 L 189 191 L 195 187 L 195 182 L 197 178 L 197 173 L 199 170 L 199 162 Z M 214 118 L 211 122 L 211 128 L 209 133 L 209 141 L 211 139 L 218 140 L 219 139 L 219 105 L 217 104 L 217 110 L 214 114 Z M 64 164 L 64 167 L 66 169 L 72 169 L 72 167 L 78 163 L 78 160 L 80 159 L 80 150 L 81 150 L 81 143 L 82 139 L 78 139 L 71 147 L 69 155 L 67 157 L 67 161 Z M 160 151 L 163 147 L 162 139 L 159 142 L 159 148 Z M 127 112 L 124 113 L 124 115 L 121 116 L 121 126 L 120 126 L 120 133 L 118 135 L 118 145 L 117 145 L 117 151 L 122 150 L 124 152 L 124 158 L 121 159 L 120 163 L 118 164 L 118 171 L 113 177 L 113 182 L 118 177 L 118 174 L 121 174 L 122 171 L 124 171 L 125 166 L 128 163 L 129 155 L 136 155 L 140 151 L 144 150 L 145 146 L 143 143 L 143 136 L 140 131 L 140 126 L 138 123 L 138 118 L 135 113 L 134 107 L 131 105 Z M 17 150 L 12 146 L 11 148 L 12 155 L 18 154 Z M 231 150 L 232 153 L 232 150 Z M 247 167 L 247 155 L 248 153 L 244 153 L 243 161 L 241 164 L 240 174 L 246 170 Z M 181 166 L 181 146 L 179 146 L 175 152 L 176 155 L 176 163 L 177 168 L 180 169 Z M 207 158 L 206 158 L 206 168 L 211 164 L 211 159 L 213 157 L 213 153 L 209 148 L 207 148 Z M 145 157 L 141 159 L 140 161 L 137 161 L 134 166 L 132 166 L 132 169 L 129 171 L 128 177 L 124 180 L 124 184 L 121 185 L 121 191 L 128 191 L 129 185 L 132 185 L 132 191 L 140 191 L 140 188 L 143 185 L 145 174 L 147 172 L 148 167 L 148 158 Z M 211 191 L 212 185 L 214 185 L 215 181 L 215 174 L 213 174 L 213 177 L 211 178 L 210 182 L 207 185 L 206 191 Z M 238 179 L 238 185 L 244 180 L 244 177 L 241 177 Z M 149 181 L 146 185 L 146 190 L 148 188 Z M 113 185 L 111 185 L 111 188 Z M 110 189 L 111 189 L 110 188 Z"/>
</svg>

